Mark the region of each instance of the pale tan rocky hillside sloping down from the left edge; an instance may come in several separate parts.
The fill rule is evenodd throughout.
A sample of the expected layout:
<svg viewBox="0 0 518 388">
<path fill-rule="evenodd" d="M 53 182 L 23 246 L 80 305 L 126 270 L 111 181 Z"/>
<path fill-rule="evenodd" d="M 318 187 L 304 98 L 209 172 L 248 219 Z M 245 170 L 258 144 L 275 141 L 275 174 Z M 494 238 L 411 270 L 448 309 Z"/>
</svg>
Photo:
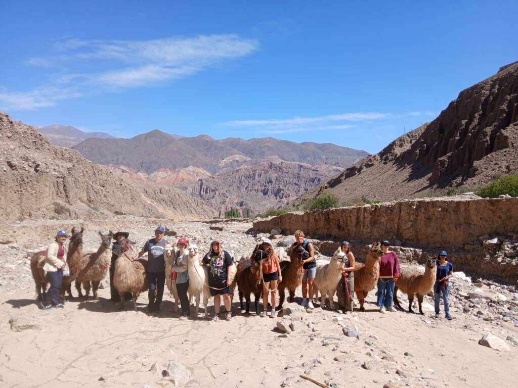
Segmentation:
<svg viewBox="0 0 518 388">
<path fill-rule="evenodd" d="M 34 127 L 0 113 L 0 217 L 113 217 L 113 212 L 205 218 L 205 202 L 154 183 L 124 180 L 69 148 L 51 145 Z"/>
</svg>

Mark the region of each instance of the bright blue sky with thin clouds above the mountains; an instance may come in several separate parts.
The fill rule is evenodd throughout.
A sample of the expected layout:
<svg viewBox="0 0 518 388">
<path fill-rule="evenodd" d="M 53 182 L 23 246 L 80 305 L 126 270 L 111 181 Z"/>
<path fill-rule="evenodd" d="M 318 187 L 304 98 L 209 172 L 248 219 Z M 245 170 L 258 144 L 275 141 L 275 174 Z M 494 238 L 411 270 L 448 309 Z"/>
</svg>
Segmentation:
<svg viewBox="0 0 518 388">
<path fill-rule="evenodd" d="M 7 0 L 0 110 L 376 153 L 518 60 L 516 1 L 356 3 Z"/>
</svg>

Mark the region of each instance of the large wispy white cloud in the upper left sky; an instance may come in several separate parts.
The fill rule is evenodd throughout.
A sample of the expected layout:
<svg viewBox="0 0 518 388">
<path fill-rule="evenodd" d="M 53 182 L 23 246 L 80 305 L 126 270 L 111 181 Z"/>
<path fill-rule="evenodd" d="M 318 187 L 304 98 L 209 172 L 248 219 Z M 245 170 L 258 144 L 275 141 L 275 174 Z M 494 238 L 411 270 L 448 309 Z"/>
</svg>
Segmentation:
<svg viewBox="0 0 518 388">
<path fill-rule="evenodd" d="M 246 56 L 259 43 L 235 34 L 170 37 L 154 40 L 65 39 L 48 56 L 25 61 L 59 72 L 52 82 L 27 92 L 0 89 L 0 107 L 36 109 L 57 101 L 96 92 L 164 84 L 187 77 L 222 61 Z M 66 71 L 74 68 L 74 72 Z"/>
</svg>

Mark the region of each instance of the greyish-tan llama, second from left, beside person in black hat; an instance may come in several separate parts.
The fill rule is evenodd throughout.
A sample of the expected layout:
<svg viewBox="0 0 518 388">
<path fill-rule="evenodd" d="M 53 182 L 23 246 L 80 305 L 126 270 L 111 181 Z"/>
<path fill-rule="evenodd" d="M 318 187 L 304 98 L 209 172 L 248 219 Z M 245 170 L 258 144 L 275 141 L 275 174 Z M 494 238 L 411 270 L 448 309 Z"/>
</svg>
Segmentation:
<svg viewBox="0 0 518 388">
<path fill-rule="evenodd" d="M 93 296 L 97 299 L 97 289 L 99 283 L 108 273 L 111 265 L 111 246 L 113 232 L 110 230 L 108 234 L 99 232 L 101 237 L 101 244 L 95 253 L 87 253 L 81 258 L 79 263 L 79 273 L 76 278 L 76 289 L 79 296 L 83 296 L 81 292 L 81 284 L 83 285 L 86 295 L 84 300 L 88 300 L 90 294 L 90 282 L 92 282 Z"/>
</svg>

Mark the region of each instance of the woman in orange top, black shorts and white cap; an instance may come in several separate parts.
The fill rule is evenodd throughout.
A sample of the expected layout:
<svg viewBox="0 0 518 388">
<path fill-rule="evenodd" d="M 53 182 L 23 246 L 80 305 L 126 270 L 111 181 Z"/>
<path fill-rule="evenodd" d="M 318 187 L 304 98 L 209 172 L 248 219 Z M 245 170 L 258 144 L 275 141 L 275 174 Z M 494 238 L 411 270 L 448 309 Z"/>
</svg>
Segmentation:
<svg viewBox="0 0 518 388">
<path fill-rule="evenodd" d="M 263 238 L 261 243 L 263 252 L 266 253 L 267 257 L 261 260 L 261 270 L 263 271 L 263 312 L 261 317 L 268 315 L 268 293 L 271 294 L 271 314 L 270 318 L 276 317 L 275 306 L 277 306 L 277 285 L 282 281 L 281 266 L 279 265 L 279 257 L 275 252 L 274 248 L 271 247 L 271 241 L 269 238 Z M 255 268 L 252 266 L 250 270 L 255 272 Z"/>
</svg>

